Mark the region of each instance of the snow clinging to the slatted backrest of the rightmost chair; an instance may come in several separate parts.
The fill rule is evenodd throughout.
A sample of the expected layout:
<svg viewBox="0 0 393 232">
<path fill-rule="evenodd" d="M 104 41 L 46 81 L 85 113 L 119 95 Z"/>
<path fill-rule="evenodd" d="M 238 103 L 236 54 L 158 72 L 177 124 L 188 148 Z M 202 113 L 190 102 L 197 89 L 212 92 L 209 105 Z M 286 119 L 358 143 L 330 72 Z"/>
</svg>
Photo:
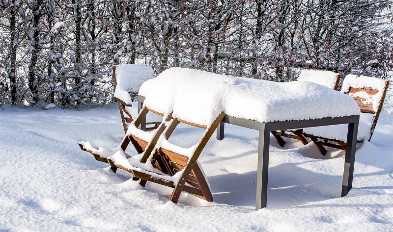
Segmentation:
<svg viewBox="0 0 393 232">
<path fill-rule="evenodd" d="M 381 101 L 383 90 L 385 88 L 385 80 L 376 77 L 366 77 L 354 74 L 348 74 L 342 82 L 341 92 L 346 93 L 349 87 L 364 88 L 369 87 L 378 90 L 377 94 L 368 95 L 365 91 L 360 91 L 355 94 L 351 93 L 352 97 L 361 97 L 365 99 L 365 103 L 372 103 L 372 108 L 376 112 L 378 110 L 378 103 Z"/>
</svg>

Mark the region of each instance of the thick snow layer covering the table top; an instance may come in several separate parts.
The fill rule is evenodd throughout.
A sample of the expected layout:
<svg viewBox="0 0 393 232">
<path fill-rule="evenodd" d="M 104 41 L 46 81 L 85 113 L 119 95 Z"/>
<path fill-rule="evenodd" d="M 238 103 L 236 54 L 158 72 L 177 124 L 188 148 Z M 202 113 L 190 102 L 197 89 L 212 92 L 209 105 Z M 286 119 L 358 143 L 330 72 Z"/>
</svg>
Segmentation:
<svg viewBox="0 0 393 232">
<path fill-rule="evenodd" d="M 211 125 L 223 111 L 258 122 L 360 114 L 351 97 L 319 84 L 279 83 L 185 68 L 170 68 L 145 81 L 140 95 L 146 97 L 146 106 L 160 112 L 173 110 L 174 117 L 200 125 Z"/>
</svg>

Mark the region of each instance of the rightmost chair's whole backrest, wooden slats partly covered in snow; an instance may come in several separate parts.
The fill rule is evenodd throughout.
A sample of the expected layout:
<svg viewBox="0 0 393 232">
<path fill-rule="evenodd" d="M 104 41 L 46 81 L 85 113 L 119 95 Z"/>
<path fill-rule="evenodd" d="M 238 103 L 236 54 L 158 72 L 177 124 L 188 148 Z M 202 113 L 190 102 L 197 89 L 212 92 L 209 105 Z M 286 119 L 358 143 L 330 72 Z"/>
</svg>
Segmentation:
<svg viewBox="0 0 393 232">
<path fill-rule="evenodd" d="M 351 96 L 360 107 L 362 113 L 374 114 L 371 123 L 372 133 L 378 121 L 385 100 L 389 81 L 376 77 L 366 77 L 349 74 L 344 78 L 341 92 Z"/>
</svg>

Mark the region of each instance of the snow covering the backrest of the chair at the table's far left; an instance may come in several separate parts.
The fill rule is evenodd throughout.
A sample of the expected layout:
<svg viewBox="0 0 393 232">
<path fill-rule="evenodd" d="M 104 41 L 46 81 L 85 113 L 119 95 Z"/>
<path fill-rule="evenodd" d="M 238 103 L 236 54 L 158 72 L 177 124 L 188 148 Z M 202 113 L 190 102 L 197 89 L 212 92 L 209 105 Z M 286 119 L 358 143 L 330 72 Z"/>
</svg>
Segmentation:
<svg viewBox="0 0 393 232">
<path fill-rule="evenodd" d="M 154 77 L 154 69 L 148 64 L 116 65 L 116 88 L 113 96 L 126 104 L 132 104 L 129 93 L 138 93 L 140 85 Z"/>
</svg>

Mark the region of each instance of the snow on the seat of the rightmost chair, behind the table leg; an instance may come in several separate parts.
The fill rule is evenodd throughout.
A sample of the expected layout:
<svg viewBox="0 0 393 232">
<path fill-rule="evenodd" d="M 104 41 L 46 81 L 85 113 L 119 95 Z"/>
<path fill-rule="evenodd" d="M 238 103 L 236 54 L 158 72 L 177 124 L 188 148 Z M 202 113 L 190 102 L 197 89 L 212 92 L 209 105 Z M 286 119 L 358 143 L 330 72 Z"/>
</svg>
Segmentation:
<svg viewBox="0 0 393 232">
<path fill-rule="evenodd" d="M 374 114 L 361 113 L 358 127 L 358 141 L 368 140 L 371 134 L 371 123 Z M 324 138 L 347 141 L 348 124 L 305 128 L 303 132 Z"/>
</svg>

